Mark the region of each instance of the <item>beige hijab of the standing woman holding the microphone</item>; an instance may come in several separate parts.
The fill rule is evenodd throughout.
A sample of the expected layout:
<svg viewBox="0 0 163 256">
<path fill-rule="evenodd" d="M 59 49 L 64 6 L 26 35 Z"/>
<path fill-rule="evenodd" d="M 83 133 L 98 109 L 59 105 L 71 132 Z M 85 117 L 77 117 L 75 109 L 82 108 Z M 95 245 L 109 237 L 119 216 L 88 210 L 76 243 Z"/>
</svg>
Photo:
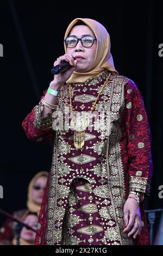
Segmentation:
<svg viewBox="0 0 163 256">
<path fill-rule="evenodd" d="M 66 83 L 84 83 L 87 79 L 101 74 L 101 72 L 103 72 L 105 69 L 111 71 L 115 75 L 119 75 L 115 70 L 114 62 L 110 53 L 109 33 L 106 31 L 104 26 L 101 25 L 101 23 L 91 19 L 77 18 L 73 20 L 68 26 L 65 33 L 65 38 L 70 33 L 74 24 L 76 24 L 78 21 L 83 21 L 87 26 L 89 26 L 89 28 L 92 29 L 93 33 L 95 34 L 97 39 L 96 56 L 90 71 L 85 73 L 73 71 L 71 77 L 66 81 Z M 65 42 L 64 46 L 66 52 Z"/>
</svg>

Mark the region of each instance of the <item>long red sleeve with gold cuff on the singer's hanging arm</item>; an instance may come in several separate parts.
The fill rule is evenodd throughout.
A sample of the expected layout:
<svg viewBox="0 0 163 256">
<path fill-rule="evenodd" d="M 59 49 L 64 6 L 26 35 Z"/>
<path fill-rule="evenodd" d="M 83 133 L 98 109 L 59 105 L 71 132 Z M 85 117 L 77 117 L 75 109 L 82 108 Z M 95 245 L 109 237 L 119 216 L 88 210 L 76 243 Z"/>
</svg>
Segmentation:
<svg viewBox="0 0 163 256">
<path fill-rule="evenodd" d="M 142 94 L 131 80 L 125 88 L 125 109 L 129 191 L 138 191 L 149 195 L 153 173 L 151 131 Z"/>
</svg>

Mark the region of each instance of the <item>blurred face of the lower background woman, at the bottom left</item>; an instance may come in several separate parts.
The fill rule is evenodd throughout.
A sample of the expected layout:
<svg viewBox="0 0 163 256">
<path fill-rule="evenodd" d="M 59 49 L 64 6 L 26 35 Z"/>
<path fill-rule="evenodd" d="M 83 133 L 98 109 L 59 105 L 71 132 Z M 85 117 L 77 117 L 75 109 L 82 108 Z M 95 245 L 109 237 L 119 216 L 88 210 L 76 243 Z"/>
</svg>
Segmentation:
<svg viewBox="0 0 163 256">
<path fill-rule="evenodd" d="M 37 221 L 38 221 L 38 218 L 37 218 L 36 215 L 29 214 L 26 217 L 26 220 L 24 220 L 24 223 L 26 223 L 27 225 L 29 225 L 30 227 L 32 227 L 33 229 L 36 230 Z M 26 227 L 22 228 L 20 237 L 23 240 L 25 240 L 27 242 L 34 243 L 35 242 L 35 236 L 36 236 L 36 233 L 34 231 L 32 231 L 30 229 L 27 229 Z"/>
</svg>

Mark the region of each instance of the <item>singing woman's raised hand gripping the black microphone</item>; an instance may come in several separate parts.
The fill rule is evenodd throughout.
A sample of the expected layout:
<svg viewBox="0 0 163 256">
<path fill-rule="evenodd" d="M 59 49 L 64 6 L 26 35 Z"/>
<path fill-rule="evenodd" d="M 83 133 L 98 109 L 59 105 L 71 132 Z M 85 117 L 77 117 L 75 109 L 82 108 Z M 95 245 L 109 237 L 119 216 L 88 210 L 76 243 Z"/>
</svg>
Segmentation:
<svg viewBox="0 0 163 256">
<path fill-rule="evenodd" d="M 58 75 L 54 75 L 54 80 L 50 83 L 50 87 L 53 88 L 57 85 L 57 87 L 61 88 L 65 82 L 70 78 L 72 72 L 77 68 L 77 60 L 74 60 L 72 55 L 65 53 L 63 56 L 60 56 L 55 62 L 54 66 L 59 65 L 63 60 L 68 62 L 72 68 L 65 70 L 64 72 L 59 73 Z"/>
</svg>

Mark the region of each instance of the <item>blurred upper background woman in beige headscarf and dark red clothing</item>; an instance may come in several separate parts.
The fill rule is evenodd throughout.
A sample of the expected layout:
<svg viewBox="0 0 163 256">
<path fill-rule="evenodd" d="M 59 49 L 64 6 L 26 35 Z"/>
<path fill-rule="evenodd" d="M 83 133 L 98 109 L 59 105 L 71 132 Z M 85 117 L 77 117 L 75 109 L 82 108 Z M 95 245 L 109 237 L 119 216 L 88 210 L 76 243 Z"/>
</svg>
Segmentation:
<svg viewBox="0 0 163 256">
<path fill-rule="evenodd" d="M 17 210 L 13 213 L 14 217 L 22 219 L 28 212 L 35 212 L 39 215 L 43 194 L 46 187 L 48 172 L 37 173 L 30 181 L 28 186 L 27 209 Z M 11 245 L 15 236 L 16 222 L 7 218 L 0 228 L 0 245 Z"/>
</svg>

